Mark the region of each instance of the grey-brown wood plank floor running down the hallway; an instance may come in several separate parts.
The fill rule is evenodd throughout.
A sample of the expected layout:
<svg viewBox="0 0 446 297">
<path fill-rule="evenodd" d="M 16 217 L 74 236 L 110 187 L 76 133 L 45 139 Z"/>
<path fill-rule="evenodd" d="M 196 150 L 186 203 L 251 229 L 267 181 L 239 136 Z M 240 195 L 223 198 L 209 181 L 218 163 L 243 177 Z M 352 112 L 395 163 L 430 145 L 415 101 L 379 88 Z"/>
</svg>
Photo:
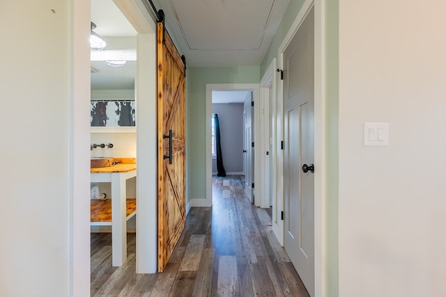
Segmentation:
<svg viewBox="0 0 446 297">
<path fill-rule="evenodd" d="M 91 296 L 309 296 L 242 177 L 213 178 L 213 207 L 190 209 L 163 273 L 135 273 L 135 241 L 112 267 L 111 234 L 91 234 Z"/>
</svg>

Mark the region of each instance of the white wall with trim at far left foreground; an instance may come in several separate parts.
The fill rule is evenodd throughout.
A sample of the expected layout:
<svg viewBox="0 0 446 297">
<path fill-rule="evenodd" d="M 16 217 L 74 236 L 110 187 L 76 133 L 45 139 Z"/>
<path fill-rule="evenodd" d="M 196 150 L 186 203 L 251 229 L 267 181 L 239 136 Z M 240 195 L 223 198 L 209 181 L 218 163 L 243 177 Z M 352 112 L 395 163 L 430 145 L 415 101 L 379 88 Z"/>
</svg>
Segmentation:
<svg viewBox="0 0 446 297">
<path fill-rule="evenodd" d="M 89 296 L 89 1 L 2 1 L 0 296 Z"/>
</svg>

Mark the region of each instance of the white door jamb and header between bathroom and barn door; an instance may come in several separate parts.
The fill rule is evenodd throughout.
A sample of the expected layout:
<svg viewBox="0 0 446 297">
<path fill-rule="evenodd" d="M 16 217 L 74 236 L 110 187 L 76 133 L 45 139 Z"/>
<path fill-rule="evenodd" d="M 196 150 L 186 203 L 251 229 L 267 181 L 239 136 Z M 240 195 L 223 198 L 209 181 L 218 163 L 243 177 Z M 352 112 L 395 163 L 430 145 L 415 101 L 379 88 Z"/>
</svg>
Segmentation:
<svg viewBox="0 0 446 297">
<path fill-rule="evenodd" d="M 113 0 L 137 31 L 137 273 L 157 271 L 156 24 L 141 1 Z M 141 67 L 141 65 L 144 65 Z M 144 98 L 139 101 L 138 98 Z M 141 116 L 144 115 L 144 116 Z"/>
</svg>

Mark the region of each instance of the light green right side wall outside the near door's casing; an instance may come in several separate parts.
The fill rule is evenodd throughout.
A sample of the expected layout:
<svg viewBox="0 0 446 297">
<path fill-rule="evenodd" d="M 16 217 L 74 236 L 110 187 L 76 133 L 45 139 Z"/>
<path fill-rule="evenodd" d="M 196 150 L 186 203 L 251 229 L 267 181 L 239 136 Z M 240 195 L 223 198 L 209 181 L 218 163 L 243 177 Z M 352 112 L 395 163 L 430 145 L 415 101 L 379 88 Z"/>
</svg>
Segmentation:
<svg viewBox="0 0 446 297">
<path fill-rule="evenodd" d="M 282 22 L 272 40 L 270 49 L 261 65 L 261 76 L 270 65 L 272 58 L 278 58 L 279 46 L 298 15 L 304 1 L 291 0 Z M 338 204 L 339 204 L 339 0 L 325 0 L 326 9 L 326 242 L 327 269 L 326 296 L 339 296 L 339 243 L 338 243 Z"/>
</svg>

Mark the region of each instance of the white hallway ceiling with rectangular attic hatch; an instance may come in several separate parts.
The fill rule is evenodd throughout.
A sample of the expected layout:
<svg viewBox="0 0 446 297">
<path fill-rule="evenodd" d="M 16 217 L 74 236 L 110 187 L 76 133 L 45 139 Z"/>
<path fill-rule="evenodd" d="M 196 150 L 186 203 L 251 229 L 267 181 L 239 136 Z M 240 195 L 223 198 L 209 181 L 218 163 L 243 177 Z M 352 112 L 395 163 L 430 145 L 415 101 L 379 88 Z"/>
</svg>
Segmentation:
<svg viewBox="0 0 446 297">
<path fill-rule="evenodd" d="M 260 65 L 289 0 L 159 0 L 191 66 Z"/>
</svg>

